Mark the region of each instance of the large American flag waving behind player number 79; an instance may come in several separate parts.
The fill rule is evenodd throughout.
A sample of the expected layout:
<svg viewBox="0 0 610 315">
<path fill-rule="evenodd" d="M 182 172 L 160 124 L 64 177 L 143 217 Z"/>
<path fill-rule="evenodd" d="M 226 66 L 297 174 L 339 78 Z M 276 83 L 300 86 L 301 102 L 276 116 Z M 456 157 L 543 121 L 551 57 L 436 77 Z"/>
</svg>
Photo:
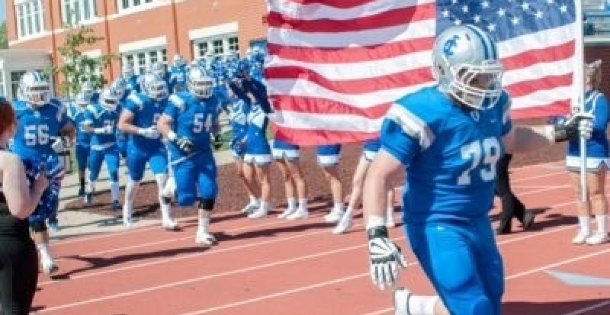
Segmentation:
<svg viewBox="0 0 610 315">
<path fill-rule="evenodd" d="M 389 105 L 434 84 L 436 34 L 474 24 L 498 41 L 512 117 L 569 112 L 575 6 L 564 0 L 267 0 L 265 65 L 277 137 L 377 136 Z"/>
</svg>

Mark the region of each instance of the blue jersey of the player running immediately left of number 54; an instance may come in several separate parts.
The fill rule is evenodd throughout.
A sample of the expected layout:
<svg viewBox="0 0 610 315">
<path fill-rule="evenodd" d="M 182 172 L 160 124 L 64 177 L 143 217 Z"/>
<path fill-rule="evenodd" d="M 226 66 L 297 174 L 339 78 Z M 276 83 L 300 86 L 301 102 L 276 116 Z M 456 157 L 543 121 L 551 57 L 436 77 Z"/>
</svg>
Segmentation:
<svg viewBox="0 0 610 315">
<path fill-rule="evenodd" d="M 149 128 L 157 126 L 157 120 L 165 110 L 167 99 L 160 101 L 152 100 L 144 93 L 132 93 L 127 96 L 123 110 L 127 110 L 134 115 L 131 123 L 139 128 Z M 139 150 L 157 150 L 162 146 L 160 139 L 149 139 L 139 134 L 130 134 L 127 143 L 135 146 Z"/>
</svg>

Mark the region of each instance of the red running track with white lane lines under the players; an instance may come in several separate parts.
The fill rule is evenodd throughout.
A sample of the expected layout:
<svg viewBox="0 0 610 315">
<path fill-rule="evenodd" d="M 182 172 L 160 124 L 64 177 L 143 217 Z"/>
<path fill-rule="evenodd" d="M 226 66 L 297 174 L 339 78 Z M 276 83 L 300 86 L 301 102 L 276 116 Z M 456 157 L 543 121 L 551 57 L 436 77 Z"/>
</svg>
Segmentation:
<svg viewBox="0 0 610 315">
<path fill-rule="evenodd" d="M 570 243 L 575 196 L 561 164 L 511 171 L 517 195 L 540 214 L 533 231 L 516 226 L 498 237 L 506 266 L 504 314 L 610 314 L 610 286 L 572 286 L 548 273 L 610 278 L 610 244 Z M 321 215 L 287 222 L 222 213 L 212 223 L 220 239 L 213 248 L 195 245 L 193 219 L 178 232 L 148 226 L 54 242 L 60 273 L 39 278 L 35 313 L 392 314 L 390 293 L 368 278 L 362 219 L 336 236 Z M 401 227 L 392 236 L 407 248 Z M 407 256 L 403 284 L 432 294 L 413 255 Z"/>
</svg>

